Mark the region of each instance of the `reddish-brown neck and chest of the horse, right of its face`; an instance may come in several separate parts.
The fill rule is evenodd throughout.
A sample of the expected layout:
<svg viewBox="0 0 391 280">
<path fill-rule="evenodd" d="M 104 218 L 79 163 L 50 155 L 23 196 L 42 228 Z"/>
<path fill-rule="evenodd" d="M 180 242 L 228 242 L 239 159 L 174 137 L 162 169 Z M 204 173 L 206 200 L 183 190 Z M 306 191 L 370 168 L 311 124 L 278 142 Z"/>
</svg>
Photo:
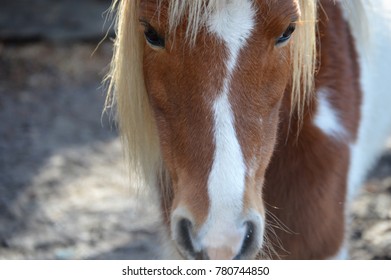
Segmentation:
<svg viewBox="0 0 391 280">
<path fill-rule="evenodd" d="M 268 222 L 278 219 L 291 231 L 276 230 L 274 243 L 285 245 L 285 250 L 277 248 L 280 257 L 288 251 L 287 258 L 328 258 L 343 242 L 350 144 L 357 137 L 362 94 L 347 23 L 332 1 L 322 1 L 322 6 L 318 23 L 320 68 L 313 98 L 306 104 L 300 123 L 297 114 L 290 115 L 287 88 L 278 140 L 265 176 L 263 195 L 271 213 Z M 319 102 L 322 98 L 328 106 L 326 117 L 332 119 L 323 126 L 316 122 L 325 108 Z M 338 128 L 342 128 L 342 135 Z M 306 246 L 316 248 L 311 256 L 303 251 Z"/>
</svg>

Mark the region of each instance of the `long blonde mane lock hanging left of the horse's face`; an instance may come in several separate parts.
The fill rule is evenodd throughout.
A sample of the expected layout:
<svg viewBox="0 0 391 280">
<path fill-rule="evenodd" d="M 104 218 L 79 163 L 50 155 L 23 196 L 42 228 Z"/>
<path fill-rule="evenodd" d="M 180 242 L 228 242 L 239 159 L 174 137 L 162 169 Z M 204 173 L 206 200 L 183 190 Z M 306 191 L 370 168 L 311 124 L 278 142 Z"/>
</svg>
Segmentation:
<svg viewBox="0 0 391 280">
<path fill-rule="evenodd" d="M 143 76 L 143 37 L 139 32 L 140 0 L 114 0 L 117 7 L 114 55 L 110 71 L 106 108 L 116 107 L 116 118 L 136 186 L 156 185 L 160 148 Z"/>
</svg>

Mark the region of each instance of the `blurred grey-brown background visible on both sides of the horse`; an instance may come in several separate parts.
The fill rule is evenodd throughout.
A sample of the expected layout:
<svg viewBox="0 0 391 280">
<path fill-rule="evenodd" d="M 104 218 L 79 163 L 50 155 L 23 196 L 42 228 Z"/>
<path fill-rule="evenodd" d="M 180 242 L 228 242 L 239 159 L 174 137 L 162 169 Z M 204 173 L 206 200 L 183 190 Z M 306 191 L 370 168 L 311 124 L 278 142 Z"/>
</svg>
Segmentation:
<svg viewBox="0 0 391 280">
<path fill-rule="evenodd" d="M 0 2 L 0 259 L 156 258 L 156 205 L 102 114 L 111 0 Z M 391 259 L 391 144 L 352 208 L 351 257 Z"/>
</svg>

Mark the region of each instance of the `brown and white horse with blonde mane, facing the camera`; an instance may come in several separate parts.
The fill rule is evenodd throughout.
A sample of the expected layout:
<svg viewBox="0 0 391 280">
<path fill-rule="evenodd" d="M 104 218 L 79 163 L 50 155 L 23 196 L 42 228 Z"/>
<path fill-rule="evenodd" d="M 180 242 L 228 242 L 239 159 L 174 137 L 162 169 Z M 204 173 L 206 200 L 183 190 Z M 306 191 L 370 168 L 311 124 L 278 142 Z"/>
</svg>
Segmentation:
<svg viewBox="0 0 391 280">
<path fill-rule="evenodd" d="M 114 1 L 106 107 L 158 193 L 162 258 L 349 257 L 391 133 L 386 2 Z"/>
</svg>

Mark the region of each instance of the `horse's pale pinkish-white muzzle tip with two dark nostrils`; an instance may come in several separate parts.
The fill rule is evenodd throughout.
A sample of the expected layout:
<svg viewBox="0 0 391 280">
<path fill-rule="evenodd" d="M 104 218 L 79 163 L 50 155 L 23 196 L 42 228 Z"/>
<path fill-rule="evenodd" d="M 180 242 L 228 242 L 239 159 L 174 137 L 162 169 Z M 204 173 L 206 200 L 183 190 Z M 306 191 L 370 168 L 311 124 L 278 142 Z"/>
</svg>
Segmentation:
<svg viewBox="0 0 391 280">
<path fill-rule="evenodd" d="M 262 247 L 263 227 L 260 219 L 246 220 L 239 226 L 210 225 L 206 232 L 196 232 L 192 219 L 172 220 L 173 239 L 186 259 L 251 259 Z M 201 227 L 202 228 L 202 227 Z"/>
</svg>

